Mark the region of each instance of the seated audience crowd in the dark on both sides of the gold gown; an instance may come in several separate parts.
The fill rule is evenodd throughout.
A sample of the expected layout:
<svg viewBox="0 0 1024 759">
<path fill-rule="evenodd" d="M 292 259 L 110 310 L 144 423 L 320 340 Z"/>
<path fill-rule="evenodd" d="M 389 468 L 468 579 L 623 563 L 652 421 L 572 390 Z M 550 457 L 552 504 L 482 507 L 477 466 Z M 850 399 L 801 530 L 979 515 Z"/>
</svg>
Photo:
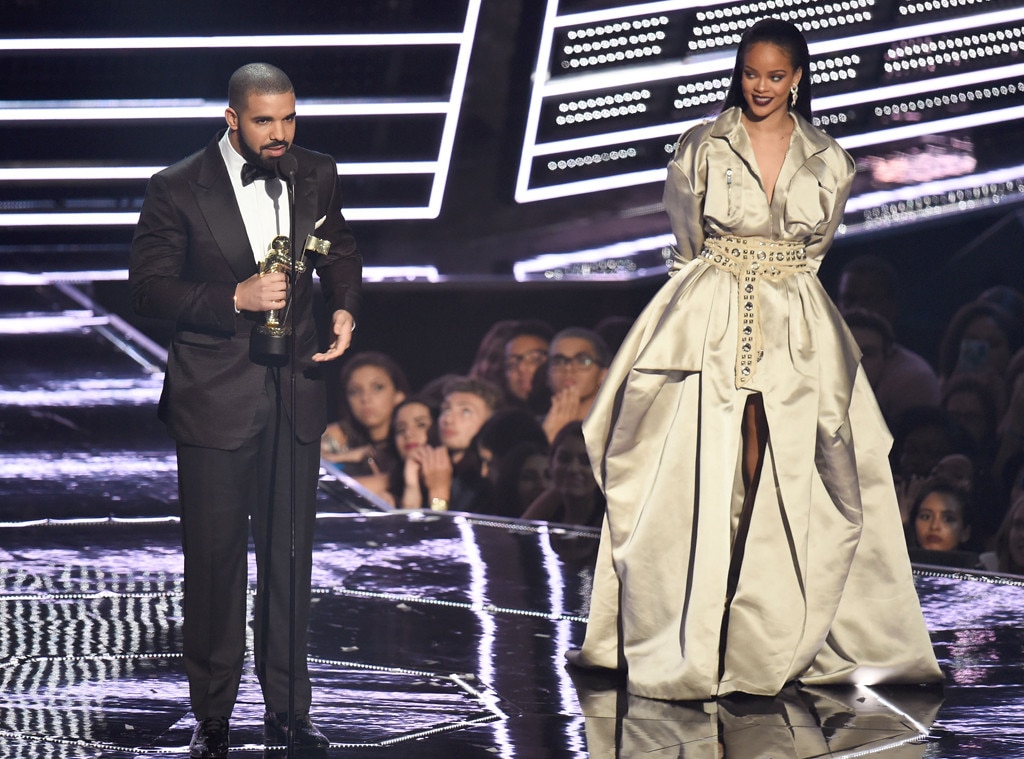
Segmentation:
<svg viewBox="0 0 1024 759">
<path fill-rule="evenodd" d="M 895 269 L 861 256 L 836 301 L 894 435 L 911 557 L 1024 574 L 1024 294 L 996 287 L 963 304 L 932 366 L 894 333 L 898 293 Z M 323 457 L 398 508 L 597 526 L 582 421 L 630 324 L 501 321 L 464 374 L 416 391 L 393 357 L 352 354 Z"/>
</svg>

